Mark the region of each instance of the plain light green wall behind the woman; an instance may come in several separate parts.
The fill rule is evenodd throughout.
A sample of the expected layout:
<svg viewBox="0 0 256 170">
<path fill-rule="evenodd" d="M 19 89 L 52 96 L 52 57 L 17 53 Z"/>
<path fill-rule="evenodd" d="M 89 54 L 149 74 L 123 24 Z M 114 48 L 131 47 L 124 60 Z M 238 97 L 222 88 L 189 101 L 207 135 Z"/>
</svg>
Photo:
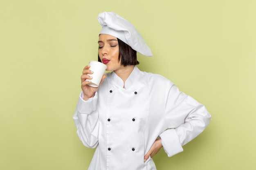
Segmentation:
<svg viewBox="0 0 256 170">
<path fill-rule="evenodd" d="M 76 135 L 83 67 L 97 60 L 97 15 L 138 29 L 164 75 L 212 115 L 206 130 L 158 170 L 256 169 L 255 0 L 0 0 L 0 169 L 86 170 L 94 150 Z"/>
</svg>

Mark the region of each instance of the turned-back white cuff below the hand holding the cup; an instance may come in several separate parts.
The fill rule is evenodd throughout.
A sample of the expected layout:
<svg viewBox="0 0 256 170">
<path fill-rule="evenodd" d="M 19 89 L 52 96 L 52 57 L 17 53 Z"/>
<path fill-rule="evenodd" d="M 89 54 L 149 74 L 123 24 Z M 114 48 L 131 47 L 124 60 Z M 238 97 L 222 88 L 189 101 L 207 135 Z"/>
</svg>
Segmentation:
<svg viewBox="0 0 256 170">
<path fill-rule="evenodd" d="M 96 110 L 97 107 L 97 99 L 98 99 L 98 93 L 96 92 L 94 97 L 88 99 L 87 101 L 85 101 L 83 99 L 83 92 L 80 93 L 79 95 L 79 99 L 76 105 L 76 110 L 79 113 L 83 113 L 83 114 L 90 114 L 92 113 L 94 110 Z"/>
</svg>

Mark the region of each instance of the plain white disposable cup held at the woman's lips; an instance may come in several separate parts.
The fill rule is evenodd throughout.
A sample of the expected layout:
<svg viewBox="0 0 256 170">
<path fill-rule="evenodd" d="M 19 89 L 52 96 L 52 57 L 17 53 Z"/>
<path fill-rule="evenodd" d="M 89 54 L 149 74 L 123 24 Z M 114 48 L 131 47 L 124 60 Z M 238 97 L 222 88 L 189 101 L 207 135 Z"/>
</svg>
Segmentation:
<svg viewBox="0 0 256 170">
<path fill-rule="evenodd" d="M 99 87 L 99 83 L 101 82 L 101 78 L 105 70 L 107 69 L 107 66 L 97 61 L 90 61 L 89 65 L 90 65 L 89 69 L 93 71 L 93 74 L 87 74 L 87 75 L 92 76 L 92 79 L 86 79 L 85 81 L 92 81 L 90 84 L 88 84 L 89 86 Z"/>
</svg>

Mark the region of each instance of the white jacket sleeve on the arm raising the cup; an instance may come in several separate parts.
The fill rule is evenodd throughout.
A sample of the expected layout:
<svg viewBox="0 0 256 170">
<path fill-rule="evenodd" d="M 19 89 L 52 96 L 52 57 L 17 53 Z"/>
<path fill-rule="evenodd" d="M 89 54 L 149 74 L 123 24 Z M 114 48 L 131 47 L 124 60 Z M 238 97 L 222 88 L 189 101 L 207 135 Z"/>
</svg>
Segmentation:
<svg viewBox="0 0 256 170">
<path fill-rule="evenodd" d="M 88 148 L 95 148 L 98 144 L 99 117 L 97 111 L 97 92 L 94 97 L 85 101 L 83 92 L 79 95 L 76 111 L 73 115 L 77 128 L 77 135 Z"/>
</svg>

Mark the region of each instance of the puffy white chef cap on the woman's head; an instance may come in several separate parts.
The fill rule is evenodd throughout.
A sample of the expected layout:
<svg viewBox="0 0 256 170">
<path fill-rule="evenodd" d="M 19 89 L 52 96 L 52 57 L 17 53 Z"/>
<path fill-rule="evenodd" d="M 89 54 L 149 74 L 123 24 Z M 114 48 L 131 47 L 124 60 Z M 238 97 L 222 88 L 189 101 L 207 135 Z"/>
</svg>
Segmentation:
<svg viewBox="0 0 256 170">
<path fill-rule="evenodd" d="M 153 55 L 139 32 L 126 19 L 114 12 L 103 12 L 99 13 L 98 20 L 102 26 L 102 30 L 99 34 L 112 35 L 143 55 Z"/>
</svg>

